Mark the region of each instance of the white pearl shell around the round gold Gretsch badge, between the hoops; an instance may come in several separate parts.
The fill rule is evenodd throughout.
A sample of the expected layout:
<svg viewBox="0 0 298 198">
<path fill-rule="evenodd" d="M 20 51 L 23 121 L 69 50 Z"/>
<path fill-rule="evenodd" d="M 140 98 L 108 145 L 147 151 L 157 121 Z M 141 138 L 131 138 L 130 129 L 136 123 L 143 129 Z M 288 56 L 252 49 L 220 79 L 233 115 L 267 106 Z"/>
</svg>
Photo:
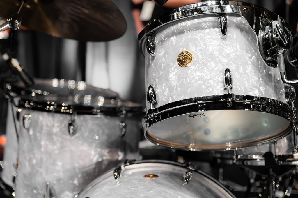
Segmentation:
<svg viewBox="0 0 298 198">
<path fill-rule="evenodd" d="M 153 85 L 160 107 L 182 99 L 227 93 L 224 71 L 232 72 L 232 93 L 285 102 L 279 69 L 268 66 L 258 50 L 257 36 L 245 18 L 226 14 L 228 29 L 220 36 L 218 15 L 199 15 L 172 22 L 154 36 L 155 57 L 145 45 L 146 92 Z M 189 50 L 193 63 L 181 67 L 179 53 Z M 147 108 L 149 108 L 147 104 Z"/>
</svg>

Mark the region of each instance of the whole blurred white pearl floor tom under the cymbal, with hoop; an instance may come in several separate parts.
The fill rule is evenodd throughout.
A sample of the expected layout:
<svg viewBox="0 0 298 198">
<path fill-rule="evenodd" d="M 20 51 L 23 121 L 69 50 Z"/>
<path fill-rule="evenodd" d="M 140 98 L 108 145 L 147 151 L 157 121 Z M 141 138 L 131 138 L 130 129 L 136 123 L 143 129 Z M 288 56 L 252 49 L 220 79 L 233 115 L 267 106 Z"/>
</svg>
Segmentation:
<svg viewBox="0 0 298 198">
<path fill-rule="evenodd" d="M 64 79 L 10 84 L 7 91 L 19 98 L 17 197 L 73 198 L 120 161 L 139 158 L 139 104 Z M 16 163 L 5 154 L 8 165 Z"/>
</svg>

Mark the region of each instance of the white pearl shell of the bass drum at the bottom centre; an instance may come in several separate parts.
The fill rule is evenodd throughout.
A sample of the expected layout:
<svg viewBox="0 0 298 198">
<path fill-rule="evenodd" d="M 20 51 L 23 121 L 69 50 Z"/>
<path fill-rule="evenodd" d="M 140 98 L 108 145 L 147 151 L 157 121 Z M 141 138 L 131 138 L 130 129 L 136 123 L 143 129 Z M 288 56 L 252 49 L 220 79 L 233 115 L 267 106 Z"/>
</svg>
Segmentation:
<svg viewBox="0 0 298 198">
<path fill-rule="evenodd" d="M 171 162 L 140 163 L 122 168 L 118 182 L 113 171 L 106 172 L 84 189 L 78 198 L 95 197 L 234 197 L 214 179 L 193 171 L 187 184 L 183 175 L 187 169 Z M 145 175 L 158 177 L 149 178 Z"/>
</svg>

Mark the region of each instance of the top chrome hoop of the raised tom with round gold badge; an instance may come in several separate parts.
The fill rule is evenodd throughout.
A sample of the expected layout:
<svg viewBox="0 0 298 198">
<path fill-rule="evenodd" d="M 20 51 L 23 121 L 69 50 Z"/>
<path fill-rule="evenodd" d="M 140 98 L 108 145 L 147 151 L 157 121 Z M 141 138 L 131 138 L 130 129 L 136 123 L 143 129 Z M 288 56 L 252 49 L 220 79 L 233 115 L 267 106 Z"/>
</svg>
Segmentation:
<svg viewBox="0 0 298 198">
<path fill-rule="evenodd" d="M 147 26 L 139 33 L 138 40 L 144 41 L 145 36 L 152 36 L 155 30 L 176 20 L 188 18 L 191 16 L 212 14 L 212 13 L 235 13 L 244 17 L 249 25 L 258 35 L 260 28 L 271 24 L 274 20 L 279 20 L 285 27 L 291 29 L 289 24 L 277 14 L 259 7 L 241 1 L 204 1 L 200 3 L 189 4 L 172 9 L 158 18 L 150 21 Z"/>
</svg>

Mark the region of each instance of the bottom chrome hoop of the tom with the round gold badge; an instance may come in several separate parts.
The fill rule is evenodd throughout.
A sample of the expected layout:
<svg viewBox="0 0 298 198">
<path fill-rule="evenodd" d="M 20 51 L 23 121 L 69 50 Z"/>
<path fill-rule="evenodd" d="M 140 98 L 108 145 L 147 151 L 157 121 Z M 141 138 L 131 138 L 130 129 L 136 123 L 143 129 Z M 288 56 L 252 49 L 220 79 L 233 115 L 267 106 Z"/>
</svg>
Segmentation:
<svg viewBox="0 0 298 198">
<path fill-rule="evenodd" d="M 258 145 L 264 144 L 273 140 L 279 140 L 285 137 L 293 130 L 294 119 L 296 118 L 296 108 L 291 107 L 288 104 L 280 102 L 278 100 L 260 97 L 260 96 L 248 96 L 248 95 L 237 95 L 237 94 L 223 94 L 217 96 L 204 96 L 196 97 L 190 99 L 184 99 L 176 102 L 171 102 L 163 106 L 149 109 L 148 113 L 145 115 L 142 121 L 142 128 L 145 132 L 145 137 L 147 140 L 160 145 L 169 147 L 165 144 L 163 140 L 156 142 L 155 139 L 152 139 L 147 133 L 148 129 L 154 124 L 164 121 L 169 118 L 173 118 L 179 115 L 185 115 L 188 113 L 195 112 L 204 112 L 211 110 L 245 110 L 245 111 L 256 111 L 263 113 L 270 113 L 278 115 L 287 119 L 291 124 L 285 130 L 280 137 L 273 137 L 271 139 L 266 139 L 258 142 Z M 253 146 L 250 144 L 243 145 L 241 148 Z M 189 147 L 181 148 L 176 145 L 171 146 L 171 148 L 187 151 L 198 151 L 200 149 L 193 149 Z M 226 148 L 226 149 L 206 149 L 206 150 L 232 150 L 235 148 Z"/>
</svg>

